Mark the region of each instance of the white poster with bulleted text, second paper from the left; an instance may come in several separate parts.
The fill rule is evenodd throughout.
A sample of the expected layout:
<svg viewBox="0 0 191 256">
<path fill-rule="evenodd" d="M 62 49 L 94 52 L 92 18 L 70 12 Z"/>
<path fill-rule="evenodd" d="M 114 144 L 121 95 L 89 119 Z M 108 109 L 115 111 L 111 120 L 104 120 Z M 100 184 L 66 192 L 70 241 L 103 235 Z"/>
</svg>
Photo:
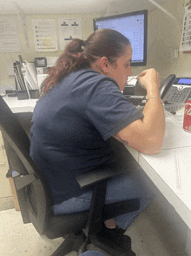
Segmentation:
<svg viewBox="0 0 191 256">
<path fill-rule="evenodd" d="M 33 19 L 32 25 L 36 51 L 57 51 L 55 19 Z"/>
</svg>

